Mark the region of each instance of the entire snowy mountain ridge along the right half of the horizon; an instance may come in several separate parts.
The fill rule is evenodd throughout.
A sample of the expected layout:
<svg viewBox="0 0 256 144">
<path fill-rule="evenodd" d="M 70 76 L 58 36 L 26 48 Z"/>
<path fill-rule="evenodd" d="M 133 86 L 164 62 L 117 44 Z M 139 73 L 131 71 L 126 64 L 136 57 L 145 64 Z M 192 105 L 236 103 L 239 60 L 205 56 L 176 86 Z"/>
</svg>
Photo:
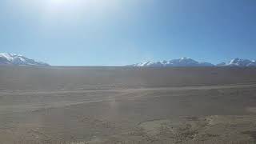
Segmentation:
<svg viewBox="0 0 256 144">
<path fill-rule="evenodd" d="M 128 66 L 142 66 L 142 67 L 186 67 L 186 66 L 256 66 L 255 61 L 248 59 L 234 58 L 230 62 L 222 62 L 214 65 L 210 62 L 198 62 L 192 58 L 179 58 L 170 61 L 161 62 L 141 62 Z"/>
</svg>

